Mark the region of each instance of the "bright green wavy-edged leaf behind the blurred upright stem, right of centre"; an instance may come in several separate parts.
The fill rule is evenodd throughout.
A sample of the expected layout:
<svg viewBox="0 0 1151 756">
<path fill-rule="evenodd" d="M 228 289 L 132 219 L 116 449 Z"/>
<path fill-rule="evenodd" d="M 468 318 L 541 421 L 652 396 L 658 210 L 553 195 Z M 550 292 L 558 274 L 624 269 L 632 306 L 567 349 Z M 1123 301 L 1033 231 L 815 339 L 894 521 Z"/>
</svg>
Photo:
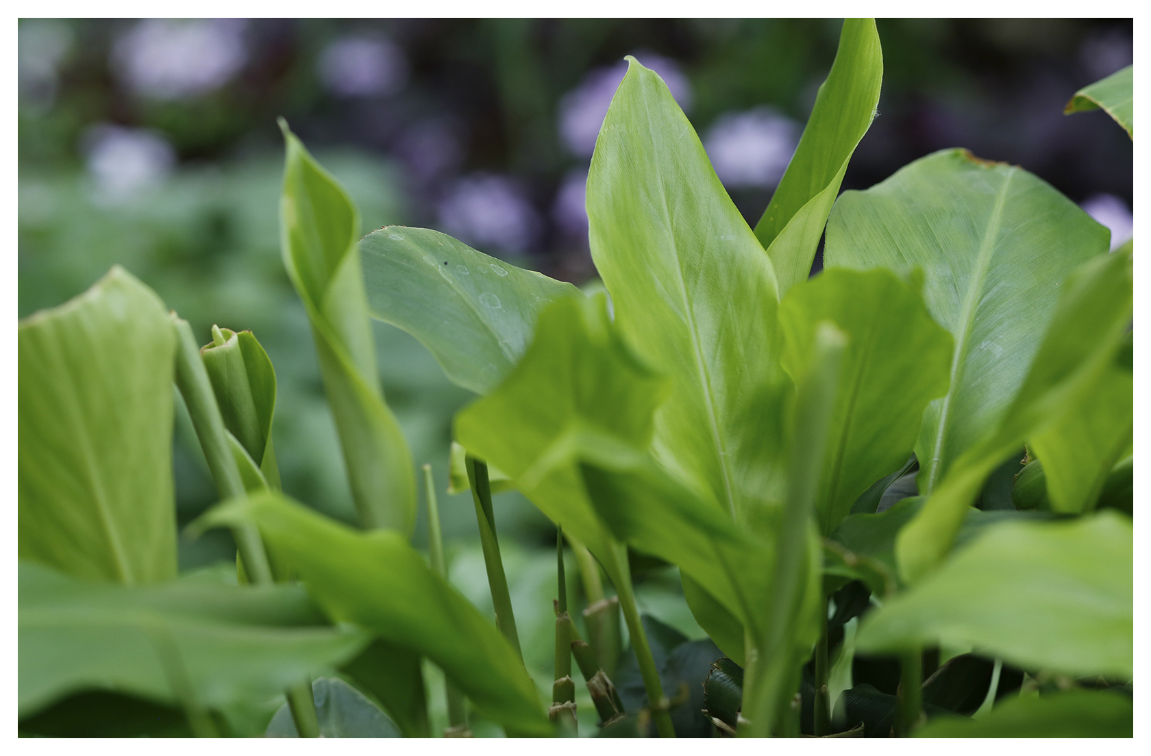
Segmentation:
<svg viewBox="0 0 1151 756">
<path fill-rule="evenodd" d="M 952 338 L 890 270 L 825 270 L 779 305 L 783 366 L 807 368 L 818 323 L 848 335 L 815 506 L 830 535 L 855 499 L 912 453 L 928 402 L 947 391 Z"/>
</svg>

